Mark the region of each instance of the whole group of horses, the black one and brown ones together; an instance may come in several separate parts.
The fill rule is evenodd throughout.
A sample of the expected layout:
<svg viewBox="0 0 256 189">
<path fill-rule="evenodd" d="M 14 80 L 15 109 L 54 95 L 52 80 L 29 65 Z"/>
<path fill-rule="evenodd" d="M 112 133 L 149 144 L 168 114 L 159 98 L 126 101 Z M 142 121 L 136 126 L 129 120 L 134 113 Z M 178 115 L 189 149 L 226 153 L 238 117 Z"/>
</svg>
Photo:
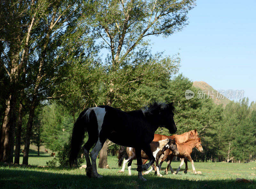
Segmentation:
<svg viewBox="0 0 256 189">
<path fill-rule="evenodd" d="M 177 131 L 173 120 L 174 109 L 173 103 L 158 101 L 153 101 L 140 110 L 130 112 L 124 112 L 107 105 L 85 109 L 80 113 L 73 127 L 69 151 L 70 166 L 76 165 L 78 167 L 78 154 L 84 141 L 84 134 L 87 132 L 88 140 L 82 149 L 87 165 L 86 175 L 89 178 L 102 177 L 97 172 L 96 158 L 107 139 L 122 146 L 119 149 L 118 164 L 121 165 L 123 162 L 123 168 L 119 172 L 123 172 L 125 164 L 128 163 L 128 171 L 131 175 L 132 160 L 136 158 L 138 178 L 146 181 L 142 176 L 142 171 L 148 170 L 151 165 L 151 169 L 144 174 L 152 171 L 156 161 L 156 172 L 157 175 L 161 176 L 159 170 L 166 159 L 173 172 L 171 161 L 174 156 L 178 156 L 182 158 L 180 166 L 184 161 L 186 163 L 185 171 L 187 171 L 187 160 L 184 157 L 187 157 L 192 163 L 194 173 L 196 173 L 190 154 L 194 147 L 199 151 L 203 150 L 201 140 L 196 130 L 181 135 L 174 134 Z M 154 134 L 158 127 L 165 127 L 174 135 Z M 89 150 L 93 145 L 91 162 Z M 128 155 L 127 158 L 124 158 L 125 151 Z M 142 164 L 142 158 L 145 164 Z M 147 160 L 149 160 L 148 163 L 146 163 Z M 176 173 L 179 172 L 179 168 Z"/>
</svg>

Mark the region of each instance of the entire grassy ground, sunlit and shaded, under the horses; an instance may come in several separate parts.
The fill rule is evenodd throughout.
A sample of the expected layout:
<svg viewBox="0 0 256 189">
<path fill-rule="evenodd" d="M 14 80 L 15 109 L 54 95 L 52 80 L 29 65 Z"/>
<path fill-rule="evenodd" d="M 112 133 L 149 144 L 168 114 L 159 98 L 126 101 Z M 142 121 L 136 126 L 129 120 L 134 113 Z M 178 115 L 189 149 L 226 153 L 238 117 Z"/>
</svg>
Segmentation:
<svg viewBox="0 0 256 189">
<path fill-rule="evenodd" d="M 29 164 L 33 165 L 32 167 L 0 164 L 0 188 L 256 188 L 256 176 L 251 175 L 251 173 L 256 174 L 256 162 L 247 164 L 195 162 L 196 171 L 201 171 L 202 175 L 194 175 L 191 164 L 188 162 L 187 174 L 183 173 L 185 169 L 185 165 L 183 165 L 178 175 L 170 173 L 164 175 L 164 169 L 162 169 L 160 171 L 164 175 L 162 178 L 155 176 L 152 171 L 149 175 L 144 176 L 148 181 L 142 182 L 137 179 L 136 161 L 133 161 L 132 164 L 132 176 L 128 176 L 127 167 L 124 173 L 117 173 L 120 170 L 116 164 L 117 158 L 109 156 L 108 164 L 111 169 L 98 169 L 98 172 L 104 177 L 90 179 L 85 176 L 85 169 L 37 167 L 46 165 L 46 161 L 50 159 L 49 154 L 41 153 L 37 157 L 36 152 L 32 150 L 29 157 Z M 165 168 L 166 165 L 164 163 L 162 168 Z M 172 162 L 174 169 L 177 169 L 179 165 L 180 162 Z M 236 178 L 253 180 L 253 184 L 235 183 Z"/>
</svg>

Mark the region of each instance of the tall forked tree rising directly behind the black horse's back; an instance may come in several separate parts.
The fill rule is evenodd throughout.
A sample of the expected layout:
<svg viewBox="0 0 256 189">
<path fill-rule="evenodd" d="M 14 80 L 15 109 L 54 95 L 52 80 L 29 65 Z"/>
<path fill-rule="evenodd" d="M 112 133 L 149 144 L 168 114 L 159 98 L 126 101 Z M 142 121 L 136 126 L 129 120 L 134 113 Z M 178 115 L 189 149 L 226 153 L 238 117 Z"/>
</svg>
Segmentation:
<svg viewBox="0 0 256 189">
<path fill-rule="evenodd" d="M 97 34 L 101 47 L 107 48 L 110 52 L 106 59 L 106 73 L 108 74 L 103 80 L 106 87 L 104 104 L 120 103 L 122 105 L 122 102 L 124 104 L 127 101 L 132 102 L 129 95 L 125 95 L 128 91 L 132 91 L 132 89 L 129 90 L 129 86 L 132 86 L 133 83 L 145 82 L 144 79 L 148 77 L 149 70 L 153 70 L 154 66 L 150 65 L 153 62 L 149 63 L 150 60 L 148 63 L 137 62 L 142 58 L 134 55 L 146 54 L 142 51 L 145 50 L 143 47 L 149 45 L 147 36 L 163 35 L 167 37 L 180 31 L 187 24 L 186 14 L 193 8 L 194 2 L 194 0 L 171 2 L 166 0 L 87 1 L 87 6 L 91 7 L 93 32 Z M 136 51 L 140 52 L 136 54 Z M 160 62 L 159 65 L 170 62 L 170 59 Z M 152 78 L 152 80 L 154 79 L 156 78 Z M 136 92 L 133 92 L 133 95 L 136 96 Z M 120 107 L 117 104 L 115 106 Z M 100 162 L 103 161 L 102 158 L 106 159 L 105 156 L 101 156 Z M 106 163 L 100 163 L 100 167 L 105 168 Z"/>
</svg>

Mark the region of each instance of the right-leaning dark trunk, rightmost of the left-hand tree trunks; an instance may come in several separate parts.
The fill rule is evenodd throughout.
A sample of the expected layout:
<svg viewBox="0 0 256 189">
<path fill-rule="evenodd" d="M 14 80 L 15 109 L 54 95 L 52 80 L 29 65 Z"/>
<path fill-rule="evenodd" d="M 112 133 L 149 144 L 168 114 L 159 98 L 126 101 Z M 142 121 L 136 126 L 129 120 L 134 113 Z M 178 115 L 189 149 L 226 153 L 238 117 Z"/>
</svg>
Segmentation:
<svg viewBox="0 0 256 189">
<path fill-rule="evenodd" d="M 38 93 L 38 89 L 35 91 L 35 94 L 33 95 L 32 103 L 29 110 L 29 117 L 28 117 L 28 124 L 27 124 L 26 138 L 25 138 L 25 147 L 24 147 L 24 154 L 23 154 L 23 161 L 22 161 L 22 164 L 25 164 L 25 165 L 28 165 L 28 152 L 29 152 L 34 113 L 36 109 L 37 93 Z"/>
</svg>

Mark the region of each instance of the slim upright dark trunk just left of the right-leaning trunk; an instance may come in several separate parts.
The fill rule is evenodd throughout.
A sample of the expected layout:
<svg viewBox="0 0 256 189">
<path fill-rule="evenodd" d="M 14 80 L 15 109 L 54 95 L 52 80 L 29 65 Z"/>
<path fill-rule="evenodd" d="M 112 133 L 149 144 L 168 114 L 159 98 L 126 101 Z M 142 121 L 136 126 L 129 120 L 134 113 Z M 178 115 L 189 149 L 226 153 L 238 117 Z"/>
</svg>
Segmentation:
<svg viewBox="0 0 256 189">
<path fill-rule="evenodd" d="M 20 164 L 20 137 L 21 137 L 21 128 L 22 128 L 22 117 L 23 117 L 23 107 L 20 104 L 18 125 L 17 125 L 17 130 L 16 130 L 16 144 L 15 144 L 14 164 Z"/>
</svg>

